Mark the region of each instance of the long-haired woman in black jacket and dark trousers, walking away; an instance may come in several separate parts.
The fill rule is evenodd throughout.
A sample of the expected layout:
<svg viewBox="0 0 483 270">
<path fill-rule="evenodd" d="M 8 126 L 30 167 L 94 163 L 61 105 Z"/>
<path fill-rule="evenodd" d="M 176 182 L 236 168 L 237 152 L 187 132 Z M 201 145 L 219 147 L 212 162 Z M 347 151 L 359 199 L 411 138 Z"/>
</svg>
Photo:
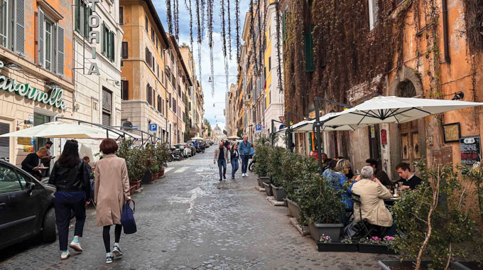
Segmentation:
<svg viewBox="0 0 483 270">
<path fill-rule="evenodd" d="M 65 142 L 64 151 L 55 162 L 48 180 L 55 185 L 55 221 L 59 230 L 60 259 L 67 259 L 70 253 L 67 250 L 67 237 L 69 234 L 70 212 L 75 213 L 75 236 L 70 247 L 82 252 L 79 237 L 82 237 L 85 222 L 85 207 L 89 204 L 89 172 L 87 163 L 79 157 L 77 141 Z"/>
</svg>

